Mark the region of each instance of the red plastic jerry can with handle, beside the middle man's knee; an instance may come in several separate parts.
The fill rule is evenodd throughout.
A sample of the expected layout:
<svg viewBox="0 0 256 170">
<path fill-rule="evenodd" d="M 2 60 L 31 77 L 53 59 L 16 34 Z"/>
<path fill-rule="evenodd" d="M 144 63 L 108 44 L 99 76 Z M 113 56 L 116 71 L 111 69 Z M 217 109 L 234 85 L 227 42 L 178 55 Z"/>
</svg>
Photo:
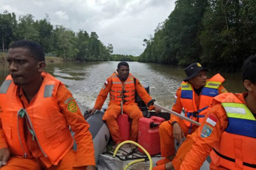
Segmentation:
<svg viewBox="0 0 256 170">
<path fill-rule="evenodd" d="M 158 116 L 142 117 L 139 120 L 138 144 L 144 147 L 151 156 L 161 152 L 159 125 L 163 121 L 165 121 L 164 118 Z M 138 150 L 144 153 L 142 149 Z"/>
</svg>

